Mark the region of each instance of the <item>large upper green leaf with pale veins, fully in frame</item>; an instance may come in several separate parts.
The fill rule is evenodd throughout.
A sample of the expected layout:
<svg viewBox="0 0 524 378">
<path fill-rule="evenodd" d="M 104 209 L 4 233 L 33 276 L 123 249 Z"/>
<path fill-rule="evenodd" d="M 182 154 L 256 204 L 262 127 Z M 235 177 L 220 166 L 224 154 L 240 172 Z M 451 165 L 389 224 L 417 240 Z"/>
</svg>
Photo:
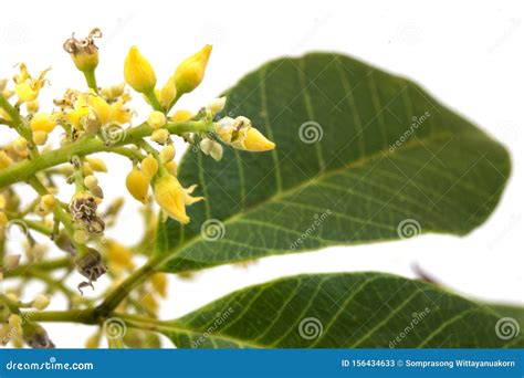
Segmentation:
<svg viewBox="0 0 524 378">
<path fill-rule="evenodd" d="M 510 175 L 506 150 L 470 122 L 411 81 L 347 56 L 277 60 L 227 95 L 224 115 L 250 117 L 276 149 L 226 148 L 219 162 L 188 150 L 179 178 L 206 201 L 189 208 L 187 227 L 160 225 L 166 271 L 463 235 L 486 220 Z M 306 143 L 314 132 L 322 138 Z"/>
</svg>

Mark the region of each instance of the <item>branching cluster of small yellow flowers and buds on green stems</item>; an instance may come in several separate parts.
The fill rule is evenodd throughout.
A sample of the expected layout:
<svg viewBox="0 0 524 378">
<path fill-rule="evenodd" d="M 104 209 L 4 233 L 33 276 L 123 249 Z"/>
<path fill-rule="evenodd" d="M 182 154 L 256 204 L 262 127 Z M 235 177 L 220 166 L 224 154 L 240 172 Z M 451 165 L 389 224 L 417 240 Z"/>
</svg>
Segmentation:
<svg viewBox="0 0 524 378">
<path fill-rule="evenodd" d="M 212 99 L 197 112 L 175 109 L 178 99 L 202 82 L 211 45 L 184 60 L 164 85 L 158 85 L 153 65 L 132 46 L 124 62 L 124 82 L 98 86 L 95 40 L 99 38 L 101 30 L 94 29 L 84 39 L 72 35 L 65 41 L 63 48 L 82 72 L 87 87 L 67 88 L 49 108 L 41 109 L 39 95 L 46 91 L 50 69 L 34 75 L 20 63 L 12 81 L 0 80 L 0 125 L 6 130 L 11 129 L 6 133 L 9 141 L 0 146 L 0 280 L 18 275 L 28 280 L 44 277 L 44 283 L 54 280 L 31 267 L 46 266 L 43 259 L 48 250 L 33 233 L 48 237 L 65 253 L 57 267 L 65 267 L 66 274 L 76 270 L 87 279 L 78 290 L 92 286 L 107 273 L 117 282 L 120 274 L 135 267 L 136 253 L 147 253 L 140 251 L 139 245 L 124 246 L 106 237 L 123 200 L 104 198 L 98 177 L 107 172 L 108 167 L 93 154 L 118 154 L 129 160 L 125 186 L 133 198 L 144 204 L 144 240 L 148 241 L 155 233 L 155 203 L 160 209 L 161 220 L 171 218 L 186 224 L 190 221 L 187 207 L 205 200 L 193 196 L 195 185 L 178 179 L 176 138 L 192 144 L 214 160 L 221 160 L 224 146 L 247 151 L 275 147 L 249 118 L 221 117 L 226 97 Z M 150 106 L 143 119 L 132 107 L 134 92 Z M 63 197 L 59 190 L 61 181 L 73 186 L 72 197 Z M 21 198 L 18 187 L 13 186 L 17 182 L 29 183 L 34 197 Z M 30 263 L 27 270 L 20 266 L 22 255 L 8 251 L 9 234 L 17 227 L 23 233 L 24 259 Z M 91 300 L 78 296 L 62 282 L 50 285 L 46 295 L 56 287 L 66 295 L 71 306 L 93 305 Z M 149 292 L 165 296 L 165 276 L 151 275 L 143 291 L 142 298 Z M 2 342 L 24 339 L 33 347 L 52 346 L 43 328 L 31 319 L 20 318 L 20 308 L 46 307 L 48 296 L 38 295 L 33 301 L 23 302 L 21 294 L 21 287 L 6 295 L 0 293 L 0 308 L 7 314 L 0 328 Z M 149 303 L 146 307 L 150 313 L 156 312 L 155 295 L 149 295 L 149 302 L 143 301 Z M 125 305 L 136 306 L 136 303 L 129 300 Z"/>
</svg>

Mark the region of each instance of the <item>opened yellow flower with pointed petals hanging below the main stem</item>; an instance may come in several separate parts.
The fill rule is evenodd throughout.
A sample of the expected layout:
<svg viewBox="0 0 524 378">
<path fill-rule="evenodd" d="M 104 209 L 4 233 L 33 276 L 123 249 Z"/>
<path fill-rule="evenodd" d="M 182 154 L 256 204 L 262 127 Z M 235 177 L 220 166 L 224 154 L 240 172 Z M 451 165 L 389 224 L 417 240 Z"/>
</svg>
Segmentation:
<svg viewBox="0 0 524 378">
<path fill-rule="evenodd" d="M 202 197 L 193 198 L 190 195 L 195 187 L 184 189 L 178 179 L 171 175 L 160 177 L 155 183 L 155 200 L 169 218 L 182 224 L 189 223 L 186 214 L 186 204 L 202 200 Z"/>
</svg>

